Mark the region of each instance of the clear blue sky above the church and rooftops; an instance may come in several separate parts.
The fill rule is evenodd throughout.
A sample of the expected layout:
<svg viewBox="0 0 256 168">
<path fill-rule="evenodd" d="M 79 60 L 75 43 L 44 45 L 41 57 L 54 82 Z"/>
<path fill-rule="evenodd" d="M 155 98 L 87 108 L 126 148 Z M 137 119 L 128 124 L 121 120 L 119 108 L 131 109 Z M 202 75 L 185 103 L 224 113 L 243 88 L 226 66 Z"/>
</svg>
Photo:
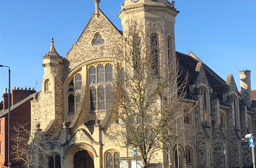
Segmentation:
<svg viewBox="0 0 256 168">
<path fill-rule="evenodd" d="M 121 28 L 117 17 L 124 0 L 101 0 L 100 8 Z M 11 67 L 11 87 L 35 87 L 44 73 L 41 58 L 54 37 L 65 57 L 94 12 L 93 0 L 0 0 L 0 64 Z M 226 80 L 251 70 L 256 89 L 256 1 L 177 0 L 176 50 L 193 51 Z M 8 69 L 0 68 L 0 95 L 8 87 Z M 40 89 L 37 85 L 37 91 Z"/>
</svg>

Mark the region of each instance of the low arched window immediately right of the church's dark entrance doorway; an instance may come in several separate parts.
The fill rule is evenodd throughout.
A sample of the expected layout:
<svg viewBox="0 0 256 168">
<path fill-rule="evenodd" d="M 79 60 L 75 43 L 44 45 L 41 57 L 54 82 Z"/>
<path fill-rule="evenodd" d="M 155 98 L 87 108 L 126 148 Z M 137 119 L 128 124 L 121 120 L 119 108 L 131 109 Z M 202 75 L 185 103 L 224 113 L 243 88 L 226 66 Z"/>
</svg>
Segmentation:
<svg viewBox="0 0 256 168">
<path fill-rule="evenodd" d="M 106 168 L 118 168 L 119 152 L 116 150 L 110 150 L 105 153 L 105 167 Z"/>
</svg>

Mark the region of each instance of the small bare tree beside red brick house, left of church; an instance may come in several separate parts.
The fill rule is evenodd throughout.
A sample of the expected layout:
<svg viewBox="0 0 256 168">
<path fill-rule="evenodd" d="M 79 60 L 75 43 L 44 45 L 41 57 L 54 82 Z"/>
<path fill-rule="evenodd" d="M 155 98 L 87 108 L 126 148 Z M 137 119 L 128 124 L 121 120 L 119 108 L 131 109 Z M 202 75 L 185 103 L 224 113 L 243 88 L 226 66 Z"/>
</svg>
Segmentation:
<svg viewBox="0 0 256 168">
<path fill-rule="evenodd" d="M 60 144 L 56 141 L 55 134 L 43 132 L 39 128 L 39 123 L 36 125 L 37 128 L 34 132 L 28 129 L 28 125 L 29 123 L 24 125 L 15 124 L 12 127 L 10 135 L 12 161 L 26 167 L 46 167 L 46 158 L 51 156 L 49 147 L 59 146 Z"/>
</svg>

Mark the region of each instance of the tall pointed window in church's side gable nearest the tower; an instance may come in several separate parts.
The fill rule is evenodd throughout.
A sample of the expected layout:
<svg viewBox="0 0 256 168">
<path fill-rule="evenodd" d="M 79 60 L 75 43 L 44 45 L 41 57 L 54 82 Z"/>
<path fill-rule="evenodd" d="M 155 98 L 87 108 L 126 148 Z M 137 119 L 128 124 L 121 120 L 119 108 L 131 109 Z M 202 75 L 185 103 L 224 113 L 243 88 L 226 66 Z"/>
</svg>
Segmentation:
<svg viewBox="0 0 256 168">
<path fill-rule="evenodd" d="M 208 91 L 206 88 L 201 87 L 202 105 L 203 105 L 203 122 L 205 126 L 209 126 L 209 101 Z"/>
</svg>

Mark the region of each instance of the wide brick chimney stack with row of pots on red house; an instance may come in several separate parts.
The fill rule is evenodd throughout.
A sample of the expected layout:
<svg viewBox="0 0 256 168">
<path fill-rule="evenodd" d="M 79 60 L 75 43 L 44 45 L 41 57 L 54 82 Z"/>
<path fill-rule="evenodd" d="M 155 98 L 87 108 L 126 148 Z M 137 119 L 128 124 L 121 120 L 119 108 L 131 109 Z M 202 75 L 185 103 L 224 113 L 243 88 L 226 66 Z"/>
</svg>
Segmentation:
<svg viewBox="0 0 256 168">
<path fill-rule="evenodd" d="M 23 99 L 25 99 L 26 97 L 28 97 L 29 95 L 35 93 L 35 89 L 34 88 L 21 88 L 19 89 L 19 87 L 14 87 L 12 88 L 12 97 L 11 97 L 11 101 L 12 101 L 12 105 L 19 102 L 19 101 L 22 101 Z"/>
</svg>

